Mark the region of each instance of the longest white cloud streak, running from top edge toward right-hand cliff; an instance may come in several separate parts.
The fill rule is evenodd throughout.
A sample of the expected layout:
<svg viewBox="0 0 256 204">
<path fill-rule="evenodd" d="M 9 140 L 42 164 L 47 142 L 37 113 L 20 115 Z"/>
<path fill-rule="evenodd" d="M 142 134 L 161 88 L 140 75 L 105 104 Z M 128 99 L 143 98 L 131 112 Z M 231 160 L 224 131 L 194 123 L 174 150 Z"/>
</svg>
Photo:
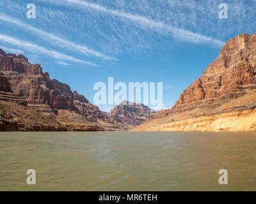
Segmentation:
<svg viewBox="0 0 256 204">
<path fill-rule="evenodd" d="M 47 1 L 47 2 L 52 2 L 52 1 Z M 164 22 L 161 21 L 157 21 L 157 20 L 152 20 L 152 18 L 150 17 L 144 17 L 141 15 L 134 15 L 131 13 L 126 13 L 124 11 L 120 11 L 120 10 L 112 10 L 109 8 L 106 8 L 104 6 L 101 6 L 99 4 L 95 4 L 95 3 L 89 3 L 87 1 L 81 1 L 81 0 L 56 0 L 54 1 L 54 3 L 57 3 L 58 5 L 68 5 L 68 6 L 76 6 L 78 8 L 89 8 L 95 11 L 99 11 L 99 12 L 103 12 L 103 13 L 108 13 L 109 15 L 113 15 L 116 17 L 120 17 L 120 19 L 122 20 L 122 18 L 131 20 L 132 22 L 136 22 L 138 24 L 141 24 L 143 26 L 147 26 L 151 29 L 154 30 L 159 30 L 159 29 L 164 29 L 164 31 L 169 31 L 170 33 L 172 33 L 172 35 L 175 38 L 178 38 L 180 40 L 184 40 L 184 41 L 190 41 L 193 43 L 201 43 L 201 44 L 207 44 L 207 45 L 211 45 L 213 47 L 223 47 L 223 45 L 225 44 L 223 41 L 221 40 L 217 40 L 214 39 L 210 36 L 205 36 L 203 34 L 200 33 L 194 33 L 192 31 L 188 31 L 186 29 L 182 29 L 179 27 L 175 27 L 173 25 L 169 25 L 166 24 Z"/>
</svg>

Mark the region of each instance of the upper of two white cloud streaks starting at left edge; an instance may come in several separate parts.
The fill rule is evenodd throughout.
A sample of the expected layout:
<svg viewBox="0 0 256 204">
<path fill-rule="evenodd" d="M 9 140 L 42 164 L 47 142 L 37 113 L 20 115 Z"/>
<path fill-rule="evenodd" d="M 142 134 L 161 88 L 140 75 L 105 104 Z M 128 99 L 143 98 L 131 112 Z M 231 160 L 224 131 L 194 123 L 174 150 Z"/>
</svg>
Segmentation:
<svg viewBox="0 0 256 204">
<path fill-rule="evenodd" d="M 65 47 L 68 48 L 69 50 L 76 50 L 78 52 L 81 52 L 85 55 L 90 55 L 94 57 L 99 57 L 100 59 L 105 59 L 105 60 L 116 60 L 115 57 L 109 57 L 108 55 L 104 55 L 100 52 L 97 52 L 93 49 L 90 49 L 86 46 L 83 45 L 77 45 L 76 43 L 72 41 L 65 40 L 63 38 L 60 38 L 54 34 L 47 33 L 45 31 L 42 31 L 40 29 L 37 29 L 35 27 L 32 27 L 31 25 L 27 25 L 24 22 L 21 22 L 20 20 L 17 20 L 12 17 L 8 17 L 6 15 L 3 15 L 0 13 L 0 20 L 3 20 L 4 22 L 8 22 L 14 25 L 19 26 L 22 29 L 27 29 L 29 31 L 32 31 L 31 33 L 38 34 L 44 38 L 47 38 L 47 40 L 51 40 L 52 43 L 55 45 L 58 45 L 60 47 Z"/>
</svg>

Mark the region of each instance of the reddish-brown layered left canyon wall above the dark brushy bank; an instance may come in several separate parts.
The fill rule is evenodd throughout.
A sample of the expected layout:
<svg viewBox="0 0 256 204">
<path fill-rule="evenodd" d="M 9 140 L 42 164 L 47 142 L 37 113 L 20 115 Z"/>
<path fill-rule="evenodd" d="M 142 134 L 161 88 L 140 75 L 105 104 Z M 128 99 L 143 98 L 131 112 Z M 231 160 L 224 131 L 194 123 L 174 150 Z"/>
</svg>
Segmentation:
<svg viewBox="0 0 256 204">
<path fill-rule="evenodd" d="M 76 114 L 79 114 L 79 122 L 109 122 L 97 106 L 76 91 L 73 93 L 67 84 L 52 80 L 40 64 L 30 64 L 23 55 L 6 54 L 0 49 L 0 71 L 0 91 L 24 98 L 28 106 L 38 112 L 57 114 L 68 122 L 76 122 L 76 119 L 68 119 L 69 115 Z"/>
</svg>

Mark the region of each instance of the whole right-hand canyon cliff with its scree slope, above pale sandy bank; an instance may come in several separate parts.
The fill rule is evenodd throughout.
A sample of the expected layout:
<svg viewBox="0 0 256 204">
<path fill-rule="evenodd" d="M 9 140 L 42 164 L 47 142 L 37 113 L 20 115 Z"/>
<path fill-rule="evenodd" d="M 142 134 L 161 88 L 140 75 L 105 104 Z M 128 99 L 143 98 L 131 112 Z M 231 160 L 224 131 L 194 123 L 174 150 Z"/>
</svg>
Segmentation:
<svg viewBox="0 0 256 204">
<path fill-rule="evenodd" d="M 157 129 L 203 115 L 250 109 L 255 90 L 256 33 L 241 34 L 227 41 L 219 57 L 180 95 L 173 108 L 157 113 L 136 129 Z"/>
</svg>

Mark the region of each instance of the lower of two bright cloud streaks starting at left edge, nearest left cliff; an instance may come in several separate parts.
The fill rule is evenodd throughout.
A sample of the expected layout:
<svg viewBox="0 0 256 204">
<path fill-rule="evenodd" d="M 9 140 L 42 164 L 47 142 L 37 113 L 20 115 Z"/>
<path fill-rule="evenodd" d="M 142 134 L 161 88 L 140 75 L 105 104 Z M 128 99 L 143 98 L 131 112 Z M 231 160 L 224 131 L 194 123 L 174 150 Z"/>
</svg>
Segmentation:
<svg viewBox="0 0 256 204">
<path fill-rule="evenodd" d="M 6 36 L 1 33 L 0 33 L 0 41 L 23 48 L 24 50 L 27 50 L 28 52 L 31 52 L 31 53 L 36 52 L 39 54 L 47 55 L 48 57 L 52 57 L 54 59 L 70 61 L 70 62 L 79 62 L 79 63 L 87 64 L 90 66 L 98 66 L 97 64 L 94 64 L 93 62 L 88 62 L 88 61 L 84 61 L 81 59 L 77 59 L 77 58 L 69 56 L 69 55 L 61 54 L 60 52 L 57 52 L 55 50 L 47 50 L 44 47 L 40 47 L 40 46 L 30 43 L 28 41 L 19 40 L 17 38 L 13 38 L 11 36 Z"/>
</svg>

